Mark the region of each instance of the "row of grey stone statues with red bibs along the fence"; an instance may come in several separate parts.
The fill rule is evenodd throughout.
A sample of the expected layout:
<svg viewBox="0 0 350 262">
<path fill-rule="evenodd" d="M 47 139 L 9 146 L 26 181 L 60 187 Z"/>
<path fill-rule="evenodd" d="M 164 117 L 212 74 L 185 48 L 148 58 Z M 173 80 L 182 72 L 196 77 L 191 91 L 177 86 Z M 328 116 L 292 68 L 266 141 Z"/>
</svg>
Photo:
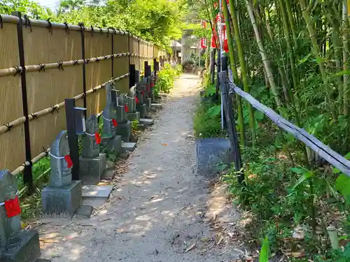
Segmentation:
<svg viewBox="0 0 350 262">
<path fill-rule="evenodd" d="M 43 214 L 73 217 L 82 203 L 82 184 L 97 184 L 106 171 L 106 154 L 100 152 L 100 145 L 120 154 L 122 141 L 130 141 L 131 122 L 146 117 L 151 108 L 150 94 L 146 79 L 128 94 L 118 94 L 113 83 L 106 85 L 103 133 L 99 134 L 97 116 L 90 115 L 85 121 L 78 181 L 72 180 L 67 131 L 59 132 L 49 152 L 50 184 L 41 192 Z M 18 182 L 10 171 L 0 171 L 0 261 L 29 262 L 38 256 L 38 232 L 21 230 Z"/>
</svg>

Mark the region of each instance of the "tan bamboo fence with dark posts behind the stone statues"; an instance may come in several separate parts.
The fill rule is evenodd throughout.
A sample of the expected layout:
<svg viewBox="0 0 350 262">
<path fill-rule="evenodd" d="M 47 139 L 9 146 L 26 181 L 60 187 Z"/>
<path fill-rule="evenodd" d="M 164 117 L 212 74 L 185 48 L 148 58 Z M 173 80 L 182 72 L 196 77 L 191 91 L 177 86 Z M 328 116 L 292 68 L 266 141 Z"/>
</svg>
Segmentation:
<svg viewBox="0 0 350 262">
<path fill-rule="evenodd" d="M 129 90 L 129 66 L 142 73 L 144 61 L 166 52 L 126 31 L 29 20 L 1 15 L 0 169 L 14 175 L 45 157 L 66 129 L 64 99 L 87 108 L 87 117 L 106 105 L 104 86 Z"/>
</svg>

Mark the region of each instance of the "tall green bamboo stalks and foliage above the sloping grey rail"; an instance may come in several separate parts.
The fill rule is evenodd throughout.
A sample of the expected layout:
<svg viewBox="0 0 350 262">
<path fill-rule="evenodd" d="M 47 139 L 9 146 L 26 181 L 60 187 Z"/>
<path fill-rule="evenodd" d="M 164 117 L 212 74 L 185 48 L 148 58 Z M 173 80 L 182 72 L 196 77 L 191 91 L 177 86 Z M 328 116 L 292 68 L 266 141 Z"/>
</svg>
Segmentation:
<svg viewBox="0 0 350 262">
<path fill-rule="evenodd" d="M 207 1 L 211 21 L 216 5 Z M 334 150 L 349 152 L 347 1 L 223 0 L 223 16 L 235 82 L 250 92 L 262 80 L 269 106 Z M 253 109 L 239 99 L 237 105 L 241 143 L 244 127 L 254 142 Z"/>
</svg>

